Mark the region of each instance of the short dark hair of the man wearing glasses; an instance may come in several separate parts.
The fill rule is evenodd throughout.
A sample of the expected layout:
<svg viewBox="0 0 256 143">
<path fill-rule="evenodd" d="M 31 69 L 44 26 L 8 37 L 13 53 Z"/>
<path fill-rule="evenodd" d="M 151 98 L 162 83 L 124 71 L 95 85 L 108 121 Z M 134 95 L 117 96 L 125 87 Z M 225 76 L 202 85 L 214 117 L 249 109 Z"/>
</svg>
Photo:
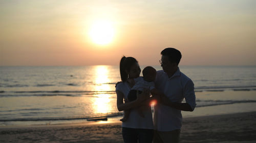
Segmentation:
<svg viewBox="0 0 256 143">
<path fill-rule="evenodd" d="M 170 62 L 176 63 L 179 65 L 181 59 L 181 53 L 179 50 L 175 48 L 165 48 L 161 51 L 161 54 L 164 56 L 168 56 Z"/>
</svg>

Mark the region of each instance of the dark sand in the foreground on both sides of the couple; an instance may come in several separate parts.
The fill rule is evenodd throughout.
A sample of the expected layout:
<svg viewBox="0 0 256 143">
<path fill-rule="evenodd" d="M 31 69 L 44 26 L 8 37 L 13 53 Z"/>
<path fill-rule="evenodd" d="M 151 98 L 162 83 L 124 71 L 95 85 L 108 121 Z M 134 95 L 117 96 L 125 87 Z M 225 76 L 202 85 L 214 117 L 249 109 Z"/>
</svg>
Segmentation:
<svg viewBox="0 0 256 143">
<path fill-rule="evenodd" d="M 181 142 L 256 142 L 256 112 L 184 118 Z M 123 142 L 121 123 L 1 127 L 0 142 Z"/>
</svg>

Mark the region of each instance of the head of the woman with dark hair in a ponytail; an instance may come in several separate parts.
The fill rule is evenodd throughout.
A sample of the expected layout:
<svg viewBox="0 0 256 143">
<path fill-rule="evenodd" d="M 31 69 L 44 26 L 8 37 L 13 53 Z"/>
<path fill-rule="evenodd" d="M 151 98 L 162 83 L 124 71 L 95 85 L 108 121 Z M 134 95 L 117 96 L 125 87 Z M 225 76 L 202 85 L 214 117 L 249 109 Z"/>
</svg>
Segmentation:
<svg viewBox="0 0 256 143">
<path fill-rule="evenodd" d="M 128 78 L 137 78 L 140 76 L 140 66 L 138 61 L 133 57 L 123 56 L 120 61 L 121 80 L 125 82 Z"/>
</svg>

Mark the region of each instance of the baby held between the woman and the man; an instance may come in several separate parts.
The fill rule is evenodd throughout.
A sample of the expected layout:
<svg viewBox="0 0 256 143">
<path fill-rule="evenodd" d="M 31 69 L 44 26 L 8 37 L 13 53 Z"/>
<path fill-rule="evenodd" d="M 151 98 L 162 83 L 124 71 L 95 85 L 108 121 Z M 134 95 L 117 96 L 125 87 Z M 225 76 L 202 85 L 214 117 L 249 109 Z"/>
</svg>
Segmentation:
<svg viewBox="0 0 256 143">
<path fill-rule="evenodd" d="M 154 69 L 153 67 L 145 67 L 142 71 L 143 77 L 138 77 L 138 78 L 134 78 L 134 79 L 128 79 L 128 82 L 134 84 L 131 91 L 129 92 L 126 102 L 131 102 L 137 99 L 137 92 L 139 94 L 142 93 L 142 91 L 144 89 L 148 89 L 150 90 L 151 94 L 153 96 L 162 96 L 163 94 L 161 92 L 159 92 L 156 88 L 155 88 L 155 84 L 154 81 L 156 80 L 156 75 L 157 75 L 157 71 L 156 69 Z M 148 97 L 150 98 L 150 97 Z M 143 111 L 145 110 L 145 108 L 148 108 L 148 105 L 145 106 L 140 106 L 137 111 L 139 112 L 139 115 L 141 117 L 144 117 L 143 115 Z M 125 122 L 130 115 L 130 110 L 124 110 L 124 116 L 122 119 L 120 119 L 120 121 Z"/>
</svg>

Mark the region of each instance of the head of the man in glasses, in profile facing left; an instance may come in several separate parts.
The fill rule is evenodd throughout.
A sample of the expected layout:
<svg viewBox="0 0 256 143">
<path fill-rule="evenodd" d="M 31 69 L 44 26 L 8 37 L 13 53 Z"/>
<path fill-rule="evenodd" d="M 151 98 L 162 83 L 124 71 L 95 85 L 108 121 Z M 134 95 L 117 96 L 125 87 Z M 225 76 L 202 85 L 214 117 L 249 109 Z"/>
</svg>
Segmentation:
<svg viewBox="0 0 256 143">
<path fill-rule="evenodd" d="M 162 58 L 160 60 L 161 67 L 164 72 L 174 72 L 180 63 L 181 53 L 175 48 L 165 48 L 161 51 Z"/>
</svg>

